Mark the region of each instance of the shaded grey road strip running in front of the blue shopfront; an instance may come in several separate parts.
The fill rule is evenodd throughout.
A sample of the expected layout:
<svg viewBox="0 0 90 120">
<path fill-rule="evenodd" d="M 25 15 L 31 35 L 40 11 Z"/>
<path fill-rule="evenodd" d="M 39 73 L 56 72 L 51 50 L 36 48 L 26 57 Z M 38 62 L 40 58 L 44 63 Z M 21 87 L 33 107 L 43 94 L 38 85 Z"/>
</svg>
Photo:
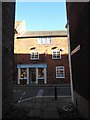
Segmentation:
<svg viewBox="0 0 90 120">
<path fill-rule="evenodd" d="M 41 91 L 41 92 L 40 92 Z M 70 97 L 70 86 L 16 86 L 13 88 L 13 101 L 18 102 L 20 100 L 35 98 L 38 94 L 43 97 Z"/>
</svg>

